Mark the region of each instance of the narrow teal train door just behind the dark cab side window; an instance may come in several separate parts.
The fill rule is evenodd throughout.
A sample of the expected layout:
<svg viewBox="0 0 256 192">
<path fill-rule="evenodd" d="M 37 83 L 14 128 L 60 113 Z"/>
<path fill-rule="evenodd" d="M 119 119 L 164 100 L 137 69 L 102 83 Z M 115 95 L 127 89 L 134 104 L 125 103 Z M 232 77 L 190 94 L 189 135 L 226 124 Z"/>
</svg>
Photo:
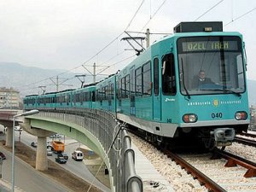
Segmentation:
<svg viewBox="0 0 256 192">
<path fill-rule="evenodd" d="M 159 59 L 158 57 L 154 58 L 153 63 L 153 119 L 160 120 L 161 119 L 161 95 L 159 89 Z"/>
</svg>

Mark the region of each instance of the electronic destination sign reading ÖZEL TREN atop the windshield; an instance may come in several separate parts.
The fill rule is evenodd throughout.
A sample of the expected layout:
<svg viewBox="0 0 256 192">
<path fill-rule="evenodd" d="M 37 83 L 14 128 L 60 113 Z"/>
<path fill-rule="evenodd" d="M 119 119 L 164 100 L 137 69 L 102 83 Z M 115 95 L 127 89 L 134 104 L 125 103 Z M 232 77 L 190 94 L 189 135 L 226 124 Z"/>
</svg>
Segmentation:
<svg viewBox="0 0 256 192">
<path fill-rule="evenodd" d="M 191 41 L 182 42 L 182 51 L 238 50 L 237 41 Z"/>
</svg>

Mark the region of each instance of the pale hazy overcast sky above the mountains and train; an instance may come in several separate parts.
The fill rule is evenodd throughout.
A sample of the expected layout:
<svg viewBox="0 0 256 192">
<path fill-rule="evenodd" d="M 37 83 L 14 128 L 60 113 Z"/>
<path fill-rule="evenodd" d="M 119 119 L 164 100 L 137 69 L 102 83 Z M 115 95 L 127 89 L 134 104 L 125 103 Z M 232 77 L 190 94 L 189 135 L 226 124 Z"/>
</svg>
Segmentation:
<svg viewBox="0 0 256 192">
<path fill-rule="evenodd" d="M 80 65 L 96 62 L 112 66 L 105 71 L 111 73 L 134 55 L 131 50 L 124 51 L 130 46 L 120 41 L 126 37 L 119 36 L 125 29 L 172 33 L 181 21 L 221 20 L 224 31 L 243 34 L 247 77 L 256 80 L 255 18 L 255 0 L 0 0 L 0 61 L 66 70 L 77 67 L 73 70 L 77 73 L 86 73 Z M 151 39 L 161 37 L 152 35 Z"/>
</svg>

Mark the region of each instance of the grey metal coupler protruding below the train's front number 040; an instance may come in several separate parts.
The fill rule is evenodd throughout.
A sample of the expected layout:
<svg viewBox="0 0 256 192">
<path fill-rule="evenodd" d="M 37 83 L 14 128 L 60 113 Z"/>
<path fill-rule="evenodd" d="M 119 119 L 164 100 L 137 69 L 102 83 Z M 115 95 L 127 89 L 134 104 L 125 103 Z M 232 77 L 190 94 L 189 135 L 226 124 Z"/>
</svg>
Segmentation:
<svg viewBox="0 0 256 192">
<path fill-rule="evenodd" d="M 235 130 L 233 128 L 218 128 L 211 131 L 214 137 L 216 147 L 229 146 L 235 139 Z"/>
</svg>

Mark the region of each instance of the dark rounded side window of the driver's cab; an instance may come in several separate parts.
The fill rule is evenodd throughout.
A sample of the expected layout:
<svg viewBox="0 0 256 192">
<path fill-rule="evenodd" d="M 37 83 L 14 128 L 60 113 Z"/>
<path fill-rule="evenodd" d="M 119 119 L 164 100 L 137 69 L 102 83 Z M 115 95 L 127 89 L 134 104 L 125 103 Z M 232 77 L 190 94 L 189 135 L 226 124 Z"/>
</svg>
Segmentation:
<svg viewBox="0 0 256 192">
<path fill-rule="evenodd" d="M 162 59 L 162 90 L 164 95 L 175 95 L 177 92 L 174 55 L 167 54 Z"/>
</svg>

